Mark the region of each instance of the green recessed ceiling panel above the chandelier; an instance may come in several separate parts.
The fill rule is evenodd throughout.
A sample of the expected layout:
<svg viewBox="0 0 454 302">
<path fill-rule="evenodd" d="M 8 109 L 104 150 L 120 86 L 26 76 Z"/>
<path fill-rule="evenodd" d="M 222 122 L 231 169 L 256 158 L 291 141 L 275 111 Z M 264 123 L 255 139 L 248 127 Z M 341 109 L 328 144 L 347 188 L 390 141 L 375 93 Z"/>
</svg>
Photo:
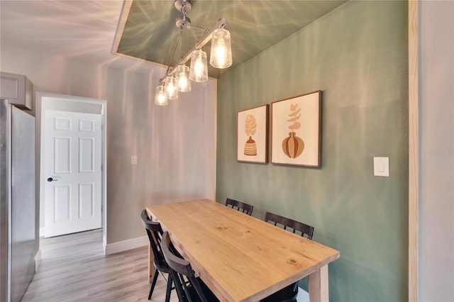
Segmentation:
<svg viewBox="0 0 454 302">
<path fill-rule="evenodd" d="M 343 3 L 344 0 L 193 0 L 187 16 L 194 26 L 202 28 L 213 28 L 218 18 L 226 18 L 226 29 L 231 33 L 233 65 L 227 69 L 209 66 L 209 76 L 218 78 Z M 205 34 L 194 27 L 184 30 L 172 59 L 170 56 L 179 33 L 175 19 L 180 14 L 173 1 L 126 1 L 112 52 L 161 65 L 176 65 Z M 208 56 L 210 47 L 211 43 L 204 46 Z"/>
</svg>

